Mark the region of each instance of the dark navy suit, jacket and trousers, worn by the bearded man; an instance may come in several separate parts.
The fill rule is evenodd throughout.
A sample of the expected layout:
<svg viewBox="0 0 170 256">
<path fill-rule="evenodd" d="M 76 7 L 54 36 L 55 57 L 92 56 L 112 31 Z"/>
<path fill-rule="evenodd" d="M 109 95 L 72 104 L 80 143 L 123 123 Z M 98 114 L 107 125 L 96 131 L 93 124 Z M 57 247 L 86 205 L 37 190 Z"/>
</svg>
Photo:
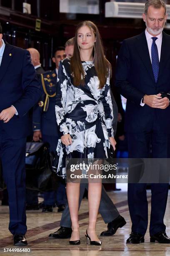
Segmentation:
<svg viewBox="0 0 170 256">
<path fill-rule="evenodd" d="M 148 158 L 152 143 L 153 158 L 170 157 L 170 107 L 140 106 L 146 95 L 170 93 L 170 36 L 163 32 L 158 80 L 155 82 L 145 32 L 123 41 L 117 58 L 116 86 L 127 98 L 125 131 L 130 158 Z M 163 218 L 168 184 L 151 184 L 150 235 L 165 231 Z M 128 184 L 128 204 L 132 231 L 145 234 L 148 226 L 146 184 Z"/>
</svg>

